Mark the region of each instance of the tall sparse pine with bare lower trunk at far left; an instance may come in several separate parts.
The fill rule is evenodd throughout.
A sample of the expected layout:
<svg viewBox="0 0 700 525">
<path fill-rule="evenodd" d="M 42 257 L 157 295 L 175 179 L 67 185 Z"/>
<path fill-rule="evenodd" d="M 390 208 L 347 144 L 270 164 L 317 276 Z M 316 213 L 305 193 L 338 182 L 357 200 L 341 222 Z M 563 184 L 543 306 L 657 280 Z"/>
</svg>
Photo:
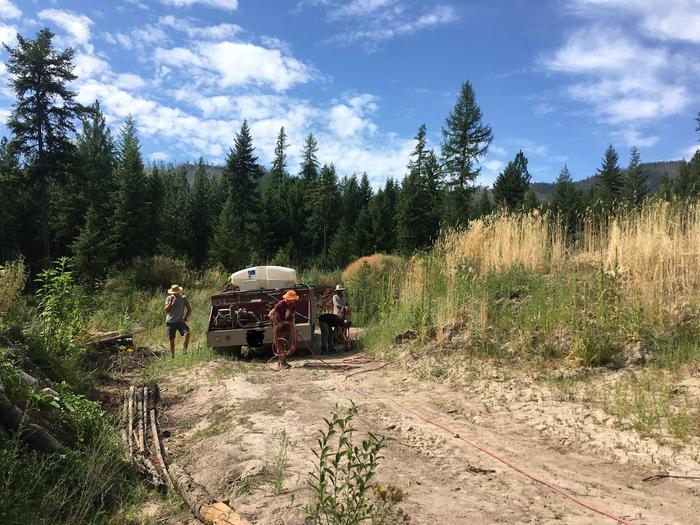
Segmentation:
<svg viewBox="0 0 700 525">
<path fill-rule="evenodd" d="M 75 132 L 73 120 L 82 113 L 76 93 L 69 87 L 77 78 L 73 74 L 75 53 L 70 48 L 57 52 L 53 37 L 45 28 L 34 40 L 17 35 L 14 48 L 3 44 L 9 55 L 10 85 L 17 96 L 7 127 L 39 191 L 44 262 L 50 258 L 51 244 L 49 188 L 74 153 L 70 139 Z"/>
</svg>

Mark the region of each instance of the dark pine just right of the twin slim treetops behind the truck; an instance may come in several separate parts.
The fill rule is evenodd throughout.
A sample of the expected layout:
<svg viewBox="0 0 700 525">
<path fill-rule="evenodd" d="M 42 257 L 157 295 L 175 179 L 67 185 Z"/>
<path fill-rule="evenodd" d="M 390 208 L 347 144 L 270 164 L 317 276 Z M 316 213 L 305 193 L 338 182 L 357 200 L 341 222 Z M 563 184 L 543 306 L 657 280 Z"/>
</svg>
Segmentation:
<svg viewBox="0 0 700 525">
<path fill-rule="evenodd" d="M 341 219 L 338 215 L 338 176 L 333 165 L 326 164 L 321 168 L 309 201 L 312 212 L 307 219 L 307 228 L 312 238 L 311 253 L 318 256 L 321 265 L 326 265 L 328 248 Z"/>
</svg>

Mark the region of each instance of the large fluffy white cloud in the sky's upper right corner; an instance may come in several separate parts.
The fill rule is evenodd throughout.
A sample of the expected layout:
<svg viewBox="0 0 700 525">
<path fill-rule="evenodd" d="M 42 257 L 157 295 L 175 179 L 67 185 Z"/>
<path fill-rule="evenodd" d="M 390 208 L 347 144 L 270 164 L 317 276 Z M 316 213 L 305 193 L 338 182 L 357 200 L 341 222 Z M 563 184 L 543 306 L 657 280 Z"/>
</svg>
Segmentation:
<svg viewBox="0 0 700 525">
<path fill-rule="evenodd" d="M 674 0 L 663 6 L 650 0 L 569 0 L 575 14 L 592 21 L 574 30 L 539 63 L 572 77 L 564 94 L 592 108 L 599 122 L 611 125 L 612 137 L 628 145 L 651 146 L 659 137 L 643 128 L 688 111 L 700 67 L 696 52 L 672 46 L 658 31 L 646 31 L 646 38 L 635 36 L 628 26 L 653 17 L 660 23 L 659 17 L 685 13 L 691 3 L 700 7 L 700 0 Z M 689 14 L 691 25 L 694 16 Z"/>
</svg>

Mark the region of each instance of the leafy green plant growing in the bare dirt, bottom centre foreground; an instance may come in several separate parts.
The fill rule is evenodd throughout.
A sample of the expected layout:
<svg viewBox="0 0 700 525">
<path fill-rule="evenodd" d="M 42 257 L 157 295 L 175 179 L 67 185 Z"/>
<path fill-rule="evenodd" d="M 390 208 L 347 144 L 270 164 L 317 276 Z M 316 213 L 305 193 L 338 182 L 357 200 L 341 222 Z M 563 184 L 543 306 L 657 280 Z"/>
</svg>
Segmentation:
<svg viewBox="0 0 700 525">
<path fill-rule="evenodd" d="M 336 405 L 331 418 L 324 418 L 325 430 L 319 431 L 318 450 L 313 451 L 318 461 L 309 481 L 313 501 L 306 507 L 307 518 L 314 525 L 384 522 L 371 490 L 386 438 L 369 433 L 361 445 L 355 445 L 356 415 L 354 403 L 345 415 Z"/>
</svg>

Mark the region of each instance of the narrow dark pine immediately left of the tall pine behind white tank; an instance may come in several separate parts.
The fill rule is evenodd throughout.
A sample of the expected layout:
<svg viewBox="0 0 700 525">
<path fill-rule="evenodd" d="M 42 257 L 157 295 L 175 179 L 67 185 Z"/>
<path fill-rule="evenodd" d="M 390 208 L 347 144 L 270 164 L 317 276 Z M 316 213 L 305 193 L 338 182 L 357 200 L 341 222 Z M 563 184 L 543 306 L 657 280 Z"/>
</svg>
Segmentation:
<svg viewBox="0 0 700 525">
<path fill-rule="evenodd" d="M 190 260 L 196 268 L 202 268 L 209 252 L 214 215 L 211 211 L 211 182 L 204 167 L 204 159 L 199 158 L 194 172 L 189 204 L 189 231 L 192 239 L 189 243 Z"/>
</svg>

